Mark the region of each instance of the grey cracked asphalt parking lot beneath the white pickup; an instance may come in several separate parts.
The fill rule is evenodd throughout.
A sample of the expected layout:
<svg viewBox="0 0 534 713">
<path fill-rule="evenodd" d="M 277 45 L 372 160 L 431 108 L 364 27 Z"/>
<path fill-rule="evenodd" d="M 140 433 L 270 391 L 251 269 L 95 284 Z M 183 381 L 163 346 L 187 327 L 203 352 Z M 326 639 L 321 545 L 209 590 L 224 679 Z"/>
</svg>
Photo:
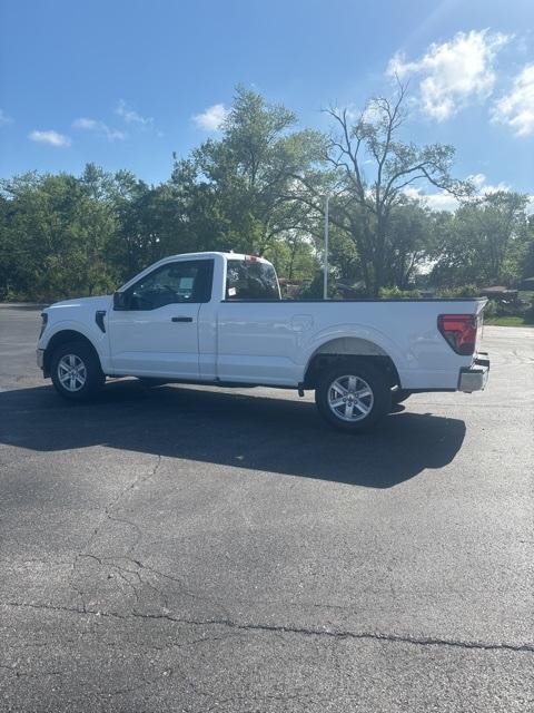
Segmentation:
<svg viewBox="0 0 534 713">
<path fill-rule="evenodd" d="M 0 307 L 0 710 L 532 711 L 534 330 L 367 436 L 312 397 L 65 403 Z"/>
</svg>

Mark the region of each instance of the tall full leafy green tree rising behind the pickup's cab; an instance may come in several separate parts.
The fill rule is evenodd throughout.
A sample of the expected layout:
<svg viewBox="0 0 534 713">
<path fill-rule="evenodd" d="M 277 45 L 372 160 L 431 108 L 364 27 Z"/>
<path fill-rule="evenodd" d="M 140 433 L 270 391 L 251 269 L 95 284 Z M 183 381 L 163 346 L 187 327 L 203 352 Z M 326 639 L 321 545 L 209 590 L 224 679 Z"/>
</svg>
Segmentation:
<svg viewBox="0 0 534 713">
<path fill-rule="evenodd" d="M 220 140 L 177 162 L 175 187 L 184 191 L 187 178 L 189 207 L 211 216 L 216 244 L 261 255 L 280 236 L 309 229 L 313 208 L 297 199 L 296 177 L 318 162 L 322 137 L 291 130 L 295 124 L 285 107 L 239 87 Z M 198 224 L 198 215 L 189 216 Z"/>
</svg>

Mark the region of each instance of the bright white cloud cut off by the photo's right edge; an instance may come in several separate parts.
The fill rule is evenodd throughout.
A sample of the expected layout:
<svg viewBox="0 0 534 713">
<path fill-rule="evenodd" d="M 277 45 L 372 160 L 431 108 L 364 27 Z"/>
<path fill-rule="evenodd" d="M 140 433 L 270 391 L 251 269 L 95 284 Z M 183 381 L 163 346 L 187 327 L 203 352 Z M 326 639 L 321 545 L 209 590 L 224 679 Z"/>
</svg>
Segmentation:
<svg viewBox="0 0 534 713">
<path fill-rule="evenodd" d="M 534 134 L 534 64 L 525 65 L 510 94 L 496 101 L 493 119 L 512 127 L 516 136 Z"/>
</svg>

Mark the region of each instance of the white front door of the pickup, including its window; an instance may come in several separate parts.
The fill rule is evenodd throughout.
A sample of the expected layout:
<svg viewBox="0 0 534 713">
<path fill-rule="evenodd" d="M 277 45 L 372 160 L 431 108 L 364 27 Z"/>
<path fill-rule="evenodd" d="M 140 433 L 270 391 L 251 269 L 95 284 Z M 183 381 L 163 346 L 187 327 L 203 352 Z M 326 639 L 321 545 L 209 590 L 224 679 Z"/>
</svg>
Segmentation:
<svg viewBox="0 0 534 713">
<path fill-rule="evenodd" d="M 198 315 L 211 280 L 211 260 L 176 261 L 121 293 L 109 315 L 113 372 L 198 379 Z"/>
</svg>

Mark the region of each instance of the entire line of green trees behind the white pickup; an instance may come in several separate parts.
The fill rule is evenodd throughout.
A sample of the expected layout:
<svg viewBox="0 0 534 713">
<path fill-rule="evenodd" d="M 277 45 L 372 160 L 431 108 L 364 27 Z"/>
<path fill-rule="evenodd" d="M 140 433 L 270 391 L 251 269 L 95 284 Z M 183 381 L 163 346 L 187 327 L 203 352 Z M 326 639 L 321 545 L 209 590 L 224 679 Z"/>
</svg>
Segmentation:
<svg viewBox="0 0 534 713">
<path fill-rule="evenodd" d="M 320 297 L 325 195 L 330 297 L 463 295 L 533 277 L 526 196 L 475 197 L 451 175 L 451 146 L 402 140 L 405 92 L 360 115 L 330 109 L 327 137 L 238 87 L 219 138 L 175 155 L 159 185 L 93 164 L 1 180 L 0 299 L 106 293 L 165 255 L 207 250 L 265 255 L 291 295 Z M 456 195 L 457 211 L 411 197 L 422 182 Z"/>
</svg>

